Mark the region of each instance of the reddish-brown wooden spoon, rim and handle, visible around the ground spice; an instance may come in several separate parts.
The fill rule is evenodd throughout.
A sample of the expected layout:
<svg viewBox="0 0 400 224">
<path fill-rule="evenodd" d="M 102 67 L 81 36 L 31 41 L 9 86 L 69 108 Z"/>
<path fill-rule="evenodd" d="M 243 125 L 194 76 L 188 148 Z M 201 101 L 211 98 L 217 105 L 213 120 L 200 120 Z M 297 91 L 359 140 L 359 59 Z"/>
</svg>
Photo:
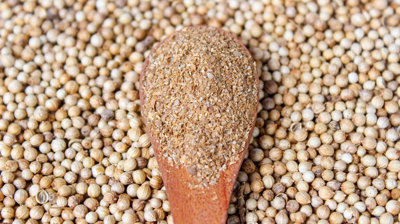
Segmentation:
<svg viewBox="0 0 400 224">
<path fill-rule="evenodd" d="M 201 29 L 205 26 L 198 26 L 195 28 Z M 237 41 L 243 49 L 246 47 L 232 34 L 217 29 L 218 32 L 228 34 L 235 41 Z M 178 31 L 179 32 L 179 31 Z M 171 36 L 171 35 L 170 35 Z M 163 41 L 152 49 L 151 54 L 161 46 L 161 44 L 168 40 L 170 37 L 166 37 Z M 247 53 L 250 55 L 248 50 Z M 145 105 L 145 94 L 143 93 L 143 82 L 145 80 L 146 69 L 149 64 L 149 57 L 146 58 L 140 77 L 140 99 L 142 105 L 142 111 Z M 258 86 L 258 78 L 256 80 Z M 257 100 L 251 103 L 258 105 L 259 98 L 259 87 L 257 89 Z M 165 156 L 160 153 L 159 144 L 157 143 L 158 136 L 153 135 L 152 131 L 147 129 L 152 147 L 154 149 L 155 157 L 158 163 L 159 170 L 161 171 L 163 182 L 167 190 L 167 195 L 173 215 L 175 224 L 183 223 L 225 223 L 227 219 L 228 206 L 235 184 L 236 176 L 241 168 L 241 164 L 247 152 L 247 148 L 250 144 L 254 125 L 256 121 L 257 111 L 254 111 L 253 122 L 251 124 L 249 137 L 246 141 L 244 150 L 240 153 L 239 159 L 232 165 L 227 164 L 225 172 L 221 173 L 218 178 L 216 185 L 211 185 L 208 189 L 193 189 L 188 183 L 197 183 L 193 175 L 189 174 L 186 168 L 183 166 L 171 166 L 167 162 Z M 146 120 L 146 117 L 145 117 Z"/>
</svg>

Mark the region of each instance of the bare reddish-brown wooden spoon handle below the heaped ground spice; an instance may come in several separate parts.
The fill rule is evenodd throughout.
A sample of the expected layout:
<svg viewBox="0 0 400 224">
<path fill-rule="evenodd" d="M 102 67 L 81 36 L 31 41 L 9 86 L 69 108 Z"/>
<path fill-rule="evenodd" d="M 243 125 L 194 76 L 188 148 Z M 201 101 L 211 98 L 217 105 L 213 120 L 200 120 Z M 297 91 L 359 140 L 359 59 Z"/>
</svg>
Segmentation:
<svg viewBox="0 0 400 224">
<path fill-rule="evenodd" d="M 230 166 L 209 189 L 190 188 L 188 181 L 190 178 L 192 182 L 192 177 L 183 169 L 162 168 L 174 224 L 225 223 L 239 166 L 240 163 Z"/>
</svg>

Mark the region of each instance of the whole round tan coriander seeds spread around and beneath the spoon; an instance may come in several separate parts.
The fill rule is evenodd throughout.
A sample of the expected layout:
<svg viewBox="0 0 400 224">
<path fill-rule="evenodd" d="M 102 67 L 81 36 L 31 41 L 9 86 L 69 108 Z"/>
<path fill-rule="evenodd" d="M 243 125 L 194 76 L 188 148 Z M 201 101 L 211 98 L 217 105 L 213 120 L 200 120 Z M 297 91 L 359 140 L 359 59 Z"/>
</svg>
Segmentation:
<svg viewBox="0 0 400 224">
<path fill-rule="evenodd" d="M 260 79 L 228 223 L 398 223 L 395 0 L 0 2 L 0 222 L 173 223 L 138 80 L 195 25 L 236 35 Z"/>
</svg>

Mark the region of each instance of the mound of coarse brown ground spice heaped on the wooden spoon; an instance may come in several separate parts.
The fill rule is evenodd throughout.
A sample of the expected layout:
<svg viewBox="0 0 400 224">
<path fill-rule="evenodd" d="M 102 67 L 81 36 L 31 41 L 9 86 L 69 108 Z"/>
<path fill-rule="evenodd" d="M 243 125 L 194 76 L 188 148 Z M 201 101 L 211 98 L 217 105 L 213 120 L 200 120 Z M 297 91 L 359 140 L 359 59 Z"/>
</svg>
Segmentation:
<svg viewBox="0 0 400 224">
<path fill-rule="evenodd" d="M 148 57 L 142 113 L 171 165 L 202 186 L 239 160 L 257 109 L 255 62 L 229 33 L 212 27 L 175 32 Z"/>
</svg>

